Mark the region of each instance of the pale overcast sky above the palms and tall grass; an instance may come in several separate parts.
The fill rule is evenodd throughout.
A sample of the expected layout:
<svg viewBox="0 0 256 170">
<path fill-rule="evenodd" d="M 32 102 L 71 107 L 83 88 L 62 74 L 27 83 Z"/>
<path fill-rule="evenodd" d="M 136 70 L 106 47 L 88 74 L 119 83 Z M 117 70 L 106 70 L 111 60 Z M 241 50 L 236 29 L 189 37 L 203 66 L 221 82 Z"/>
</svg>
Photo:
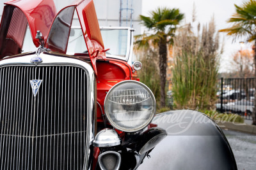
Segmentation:
<svg viewBox="0 0 256 170">
<path fill-rule="evenodd" d="M 142 0 L 142 15 L 148 15 L 149 11 L 155 10 L 158 6 L 179 8 L 182 13 L 185 13 L 186 22 L 191 22 L 193 3 L 196 6 L 196 22 L 200 25 L 207 24 L 214 15 L 216 29 L 224 29 L 230 26 L 226 21 L 235 12 L 234 4 L 241 5 L 243 0 Z M 201 29 L 202 30 L 202 29 Z M 232 38 L 221 33 L 221 41 L 225 38 L 225 52 L 221 57 L 220 72 L 228 71 L 230 55 L 240 50 L 240 39 L 232 43 Z M 251 48 L 252 45 L 247 44 L 243 48 Z"/>
</svg>

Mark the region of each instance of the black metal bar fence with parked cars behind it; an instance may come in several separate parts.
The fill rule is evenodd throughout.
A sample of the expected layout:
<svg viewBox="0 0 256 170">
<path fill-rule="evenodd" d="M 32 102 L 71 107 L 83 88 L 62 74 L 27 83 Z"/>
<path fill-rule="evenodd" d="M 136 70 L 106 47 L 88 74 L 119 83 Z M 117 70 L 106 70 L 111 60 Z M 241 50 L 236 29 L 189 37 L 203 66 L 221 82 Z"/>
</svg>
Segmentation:
<svg viewBox="0 0 256 170">
<path fill-rule="evenodd" d="M 254 108 L 255 78 L 221 78 L 218 80 L 217 110 L 221 113 L 237 113 L 252 120 Z"/>
</svg>

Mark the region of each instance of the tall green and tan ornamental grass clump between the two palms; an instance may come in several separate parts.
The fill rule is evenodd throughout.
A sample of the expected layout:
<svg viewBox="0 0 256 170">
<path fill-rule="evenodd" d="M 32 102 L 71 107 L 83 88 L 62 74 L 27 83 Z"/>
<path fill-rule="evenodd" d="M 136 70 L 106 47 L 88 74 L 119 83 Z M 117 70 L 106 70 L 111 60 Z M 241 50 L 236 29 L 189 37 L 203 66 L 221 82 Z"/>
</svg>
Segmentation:
<svg viewBox="0 0 256 170">
<path fill-rule="evenodd" d="M 177 108 L 207 108 L 216 102 L 219 36 L 214 20 L 196 33 L 191 24 L 179 29 L 173 45 L 173 99 Z"/>
</svg>

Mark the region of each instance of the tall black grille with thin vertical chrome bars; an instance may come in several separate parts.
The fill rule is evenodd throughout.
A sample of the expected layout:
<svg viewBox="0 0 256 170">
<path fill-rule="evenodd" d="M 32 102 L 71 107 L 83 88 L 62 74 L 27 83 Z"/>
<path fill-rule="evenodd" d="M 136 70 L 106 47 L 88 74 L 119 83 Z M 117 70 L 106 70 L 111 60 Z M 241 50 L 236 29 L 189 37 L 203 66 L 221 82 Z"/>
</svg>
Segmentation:
<svg viewBox="0 0 256 170">
<path fill-rule="evenodd" d="M 0 169 L 83 169 L 86 79 L 74 66 L 0 67 Z M 36 97 L 29 80 L 42 80 Z"/>
</svg>

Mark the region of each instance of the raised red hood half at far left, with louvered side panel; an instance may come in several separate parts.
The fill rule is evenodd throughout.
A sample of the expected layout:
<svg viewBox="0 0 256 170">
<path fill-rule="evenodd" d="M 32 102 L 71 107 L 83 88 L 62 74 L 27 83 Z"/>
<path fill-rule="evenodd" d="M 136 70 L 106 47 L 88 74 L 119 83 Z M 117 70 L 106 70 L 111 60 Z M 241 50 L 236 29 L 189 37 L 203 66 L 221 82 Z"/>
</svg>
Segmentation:
<svg viewBox="0 0 256 170">
<path fill-rule="evenodd" d="M 21 52 L 27 24 L 35 46 L 39 46 L 36 31 L 47 38 L 56 15 L 53 0 L 13 0 L 4 6 L 0 27 L 0 59 Z"/>
</svg>

